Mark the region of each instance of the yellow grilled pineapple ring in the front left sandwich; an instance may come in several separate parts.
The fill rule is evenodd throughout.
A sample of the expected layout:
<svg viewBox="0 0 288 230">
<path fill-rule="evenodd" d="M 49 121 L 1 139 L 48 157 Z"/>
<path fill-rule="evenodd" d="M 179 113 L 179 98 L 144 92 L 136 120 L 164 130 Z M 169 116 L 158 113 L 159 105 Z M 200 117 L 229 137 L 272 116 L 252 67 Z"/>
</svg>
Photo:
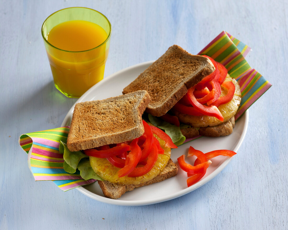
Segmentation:
<svg viewBox="0 0 288 230">
<path fill-rule="evenodd" d="M 113 166 L 106 158 L 97 158 L 90 156 L 90 165 L 93 168 L 94 172 L 96 172 L 100 177 L 102 177 L 105 181 L 110 181 L 112 183 L 138 185 L 140 183 L 150 181 L 164 170 L 168 163 L 168 160 L 170 159 L 171 154 L 171 149 L 164 147 L 165 142 L 157 135 L 154 136 L 158 139 L 160 146 L 164 149 L 164 154 L 159 154 L 153 168 L 147 174 L 141 177 L 118 177 L 118 171 L 120 170 L 120 168 Z"/>
</svg>

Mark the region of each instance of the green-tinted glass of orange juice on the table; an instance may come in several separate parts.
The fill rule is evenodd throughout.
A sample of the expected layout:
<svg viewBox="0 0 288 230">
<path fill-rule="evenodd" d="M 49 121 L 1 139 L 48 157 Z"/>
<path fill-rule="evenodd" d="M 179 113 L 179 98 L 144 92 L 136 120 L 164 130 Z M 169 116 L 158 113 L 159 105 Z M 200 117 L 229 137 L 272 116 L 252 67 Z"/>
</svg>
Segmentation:
<svg viewBox="0 0 288 230">
<path fill-rule="evenodd" d="M 55 87 L 80 97 L 104 76 L 111 24 L 100 12 L 71 7 L 51 14 L 42 25 Z"/>
</svg>

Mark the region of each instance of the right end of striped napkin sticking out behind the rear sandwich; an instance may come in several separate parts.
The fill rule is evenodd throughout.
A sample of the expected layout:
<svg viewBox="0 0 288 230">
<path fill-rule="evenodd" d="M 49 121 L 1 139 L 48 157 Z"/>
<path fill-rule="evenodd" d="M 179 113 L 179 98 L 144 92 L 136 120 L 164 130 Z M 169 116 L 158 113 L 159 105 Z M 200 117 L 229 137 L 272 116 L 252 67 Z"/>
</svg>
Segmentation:
<svg viewBox="0 0 288 230">
<path fill-rule="evenodd" d="M 249 46 L 223 31 L 198 53 L 206 54 L 223 64 L 230 76 L 238 81 L 242 100 L 235 115 L 236 120 L 271 87 L 271 84 L 245 60 L 244 57 L 250 49 Z"/>
</svg>

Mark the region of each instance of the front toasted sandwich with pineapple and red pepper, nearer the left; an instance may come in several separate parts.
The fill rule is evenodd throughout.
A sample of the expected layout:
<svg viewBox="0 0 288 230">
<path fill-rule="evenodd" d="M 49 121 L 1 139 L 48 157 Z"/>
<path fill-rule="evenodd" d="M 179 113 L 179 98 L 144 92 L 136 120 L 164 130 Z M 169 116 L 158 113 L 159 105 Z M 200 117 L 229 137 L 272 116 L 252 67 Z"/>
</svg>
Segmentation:
<svg viewBox="0 0 288 230">
<path fill-rule="evenodd" d="M 120 198 L 126 191 L 177 174 L 170 159 L 171 148 L 177 146 L 162 130 L 142 120 L 150 101 L 142 90 L 75 105 L 67 147 L 89 156 L 108 198 Z"/>
</svg>

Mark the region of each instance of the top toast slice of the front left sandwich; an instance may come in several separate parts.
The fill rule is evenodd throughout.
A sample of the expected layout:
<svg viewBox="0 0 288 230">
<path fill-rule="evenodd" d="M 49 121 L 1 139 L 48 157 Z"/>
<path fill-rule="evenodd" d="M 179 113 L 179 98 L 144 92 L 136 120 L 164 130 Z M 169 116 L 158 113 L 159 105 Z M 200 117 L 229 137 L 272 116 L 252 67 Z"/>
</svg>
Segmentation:
<svg viewBox="0 0 288 230">
<path fill-rule="evenodd" d="M 70 151 L 122 143 L 144 133 L 142 114 L 150 102 L 147 91 L 77 103 L 67 138 Z"/>
</svg>

